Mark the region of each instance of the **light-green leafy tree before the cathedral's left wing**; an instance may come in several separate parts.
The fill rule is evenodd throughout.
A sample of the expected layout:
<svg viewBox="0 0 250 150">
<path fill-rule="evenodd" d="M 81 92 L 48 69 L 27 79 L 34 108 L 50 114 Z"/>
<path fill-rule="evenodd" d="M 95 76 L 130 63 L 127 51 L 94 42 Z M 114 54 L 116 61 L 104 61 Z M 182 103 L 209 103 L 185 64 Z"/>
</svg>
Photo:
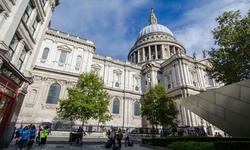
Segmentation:
<svg viewBox="0 0 250 150">
<path fill-rule="evenodd" d="M 59 100 L 57 114 L 62 119 L 79 120 L 86 123 L 89 119 L 104 123 L 108 115 L 109 95 L 104 90 L 103 80 L 94 73 L 83 73 L 73 88 L 67 88 L 68 99 Z"/>
</svg>

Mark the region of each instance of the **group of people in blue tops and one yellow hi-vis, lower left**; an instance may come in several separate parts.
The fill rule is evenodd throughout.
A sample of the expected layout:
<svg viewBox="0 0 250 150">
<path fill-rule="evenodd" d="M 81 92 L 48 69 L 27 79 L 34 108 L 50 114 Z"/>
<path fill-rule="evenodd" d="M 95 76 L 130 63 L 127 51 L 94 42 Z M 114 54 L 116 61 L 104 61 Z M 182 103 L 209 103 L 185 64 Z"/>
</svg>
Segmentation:
<svg viewBox="0 0 250 150">
<path fill-rule="evenodd" d="M 48 127 L 38 126 L 36 127 L 33 124 L 23 127 L 22 125 L 15 129 L 14 139 L 16 139 L 16 145 L 18 145 L 18 150 L 23 149 L 28 146 L 32 147 L 34 140 L 38 145 L 45 145 L 46 139 L 49 134 Z"/>
</svg>

